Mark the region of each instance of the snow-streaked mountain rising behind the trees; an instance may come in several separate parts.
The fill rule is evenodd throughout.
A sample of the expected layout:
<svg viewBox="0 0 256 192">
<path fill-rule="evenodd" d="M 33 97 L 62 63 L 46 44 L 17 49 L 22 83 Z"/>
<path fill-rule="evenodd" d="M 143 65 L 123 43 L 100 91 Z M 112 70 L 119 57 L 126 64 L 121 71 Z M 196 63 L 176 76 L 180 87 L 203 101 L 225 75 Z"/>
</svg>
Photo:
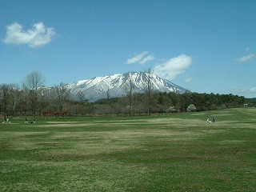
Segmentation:
<svg viewBox="0 0 256 192">
<path fill-rule="evenodd" d="M 150 80 L 149 80 L 150 79 Z M 129 72 L 126 74 L 113 74 L 110 76 L 96 77 L 89 80 L 81 80 L 68 84 L 72 94 L 79 91 L 85 95 L 89 102 L 95 102 L 101 98 L 119 98 L 126 95 L 126 87 L 132 83 L 133 93 L 143 93 L 146 90 L 147 82 L 150 82 L 151 90 L 160 92 L 185 93 L 186 89 L 174 83 L 160 78 L 155 74 L 146 72 Z"/>
</svg>

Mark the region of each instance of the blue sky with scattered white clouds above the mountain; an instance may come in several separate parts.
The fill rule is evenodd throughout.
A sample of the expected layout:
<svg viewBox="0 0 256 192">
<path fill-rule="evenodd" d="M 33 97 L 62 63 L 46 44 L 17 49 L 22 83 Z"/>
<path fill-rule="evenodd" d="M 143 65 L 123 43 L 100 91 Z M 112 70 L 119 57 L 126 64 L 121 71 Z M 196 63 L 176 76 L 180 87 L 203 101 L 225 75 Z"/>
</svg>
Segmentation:
<svg viewBox="0 0 256 192">
<path fill-rule="evenodd" d="M 256 1 L 0 1 L 0 84 L 151 70 L 198 93 L 256 98 Z"/>
</svg>

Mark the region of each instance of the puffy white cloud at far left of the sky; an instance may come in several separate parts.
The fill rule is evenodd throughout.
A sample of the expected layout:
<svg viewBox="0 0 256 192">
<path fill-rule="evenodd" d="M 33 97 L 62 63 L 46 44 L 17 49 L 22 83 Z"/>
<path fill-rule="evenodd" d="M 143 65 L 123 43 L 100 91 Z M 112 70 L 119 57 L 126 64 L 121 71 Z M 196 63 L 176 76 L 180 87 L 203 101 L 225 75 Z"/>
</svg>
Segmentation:
<svg viewBox="0 0 256 192">
<path fill-rule="evenodd" d="M 14 45 L 27 44 L 30 47 L 46 45 L 53 40 L 56 34 L 54 28 L 46 28 L 42 22 L 34 23 L 33 28 L 26 31 L 18 22 L 6 28 L 6 38 L 3 42 Z"/>
</svg>

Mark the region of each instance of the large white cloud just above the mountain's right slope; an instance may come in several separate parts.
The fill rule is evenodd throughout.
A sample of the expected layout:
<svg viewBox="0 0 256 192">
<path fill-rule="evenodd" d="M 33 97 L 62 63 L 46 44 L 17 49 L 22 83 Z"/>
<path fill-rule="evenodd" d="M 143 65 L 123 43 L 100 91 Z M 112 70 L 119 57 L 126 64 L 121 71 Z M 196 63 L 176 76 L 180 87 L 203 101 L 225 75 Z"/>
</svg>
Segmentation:
<svg viewBox="0 0 256 192">
<path fill-rule="evenodd" d="M 154 73 L 162 78 L 173 80 L 188 69 L 191 63 L 192 58 L 190 56 L 181 54 L 177 58 L 171 58 L 169 61 L 155 66 Z"/>
</svg>

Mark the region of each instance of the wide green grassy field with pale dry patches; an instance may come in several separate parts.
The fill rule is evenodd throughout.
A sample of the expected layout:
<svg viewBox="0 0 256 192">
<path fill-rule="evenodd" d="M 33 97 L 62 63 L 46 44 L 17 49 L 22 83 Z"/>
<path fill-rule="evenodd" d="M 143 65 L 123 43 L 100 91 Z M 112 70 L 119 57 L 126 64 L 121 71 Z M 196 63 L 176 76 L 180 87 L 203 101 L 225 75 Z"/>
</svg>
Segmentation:
<svg viewBox="0 0 256 192">
<path fill-rule="evenodd" d="M 0 191 L 255 191 L 255 182 L 255 108 L 0 124 Z"/>
</svg>

